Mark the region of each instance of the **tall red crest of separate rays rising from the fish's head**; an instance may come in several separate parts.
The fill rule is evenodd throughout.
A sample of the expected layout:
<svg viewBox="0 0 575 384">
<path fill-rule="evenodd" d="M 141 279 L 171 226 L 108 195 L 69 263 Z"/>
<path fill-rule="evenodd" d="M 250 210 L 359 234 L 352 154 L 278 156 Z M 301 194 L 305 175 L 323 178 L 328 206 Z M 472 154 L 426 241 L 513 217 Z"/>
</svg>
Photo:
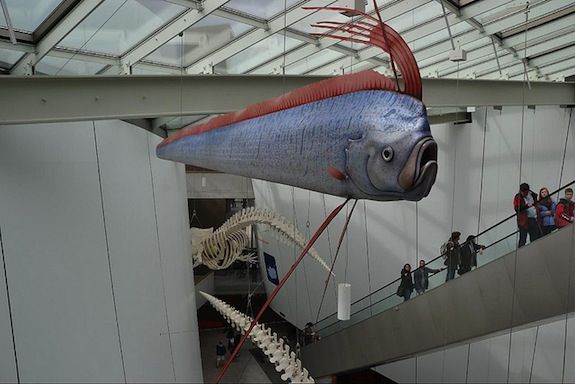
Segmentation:
<svg viewBox="0 0 575 384">
<path fill-rule="evenodd" d="M 375 7 L 377 9 L 377 5 Z M 352 41 L 367 44 L 383 49 L 390 54 L 392 62 L 397 62 L 399 71 L 405 80 L 404 93 L 419 100 L 422 99 L 421 75 L 415 56 L 409 46 L 389 25 L 384 24 L 380 19 L 355 9 L 343 7 L 303 7 L 309 10 L 331 10 L 336 12 L 348 12 L 363 17 L 363 20 L 355 23 L 341 23 L 336 21 L 323 21 L 314 24 L 314 27 L 329 29 L 325 34 L 313 34 L 320 37 L 331 37 L 338 40 Z M 379 10 L 378 17 L 379 16 Z M 349 34 L 337 35 L 338 32 Z M 397 88 L 397 87 L 396 87 Z"/>
</svg>

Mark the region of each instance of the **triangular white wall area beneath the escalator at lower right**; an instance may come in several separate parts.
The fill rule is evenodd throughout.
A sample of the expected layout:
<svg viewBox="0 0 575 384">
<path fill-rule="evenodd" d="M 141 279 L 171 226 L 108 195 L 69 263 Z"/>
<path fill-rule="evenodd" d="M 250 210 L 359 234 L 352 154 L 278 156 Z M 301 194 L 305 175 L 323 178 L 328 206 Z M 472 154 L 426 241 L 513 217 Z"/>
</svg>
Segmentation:
<svg viewBox="0 0 575 384">
<path fill-rule="evenodd" d="M 574 356 L 575 318 L 563 316 L 374 369 L 398 383 L 572 383 Z"/>
</svg>

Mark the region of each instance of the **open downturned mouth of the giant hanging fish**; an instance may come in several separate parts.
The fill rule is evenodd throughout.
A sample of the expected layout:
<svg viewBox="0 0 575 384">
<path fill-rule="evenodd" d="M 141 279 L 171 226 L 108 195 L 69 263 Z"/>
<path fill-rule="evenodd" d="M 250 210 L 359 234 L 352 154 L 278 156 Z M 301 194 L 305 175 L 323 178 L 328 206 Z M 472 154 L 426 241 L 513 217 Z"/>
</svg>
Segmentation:
<svg viewBox="0 0 575 384">
<path fill-rule="evenodd" d="M 418 201 L 429 195 L 436 176 L 437 144 L 428 136 L 415 145 L 399 174 L 405 199 Z"/>
</svg>

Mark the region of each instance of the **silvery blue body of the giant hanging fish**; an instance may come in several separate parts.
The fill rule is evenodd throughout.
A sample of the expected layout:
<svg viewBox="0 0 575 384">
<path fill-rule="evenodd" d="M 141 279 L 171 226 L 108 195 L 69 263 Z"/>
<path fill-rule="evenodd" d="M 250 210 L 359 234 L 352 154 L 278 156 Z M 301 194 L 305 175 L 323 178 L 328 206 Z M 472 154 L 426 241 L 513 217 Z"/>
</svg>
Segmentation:
<svg viewBox="0 0 575 384">
<path fill-rule="evenodd" d="M 359 91 L 300 105 L 157 148 L 160 158 L 351 198 L 398 200 L 414 146 L 431 137 L 421 101 Z M 393 149 L 383 162 L 381 151 Z M 334 167 L 347 177 L 328 173 Z"/>
</svg>

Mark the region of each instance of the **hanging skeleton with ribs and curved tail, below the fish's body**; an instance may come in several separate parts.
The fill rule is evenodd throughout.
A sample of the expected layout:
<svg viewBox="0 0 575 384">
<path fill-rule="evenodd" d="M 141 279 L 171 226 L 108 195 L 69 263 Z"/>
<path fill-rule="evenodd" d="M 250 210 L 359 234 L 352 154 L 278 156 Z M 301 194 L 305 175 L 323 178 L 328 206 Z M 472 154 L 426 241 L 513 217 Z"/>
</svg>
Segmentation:
<svg viewBox="0 0 575 384">
<path fill-rule="evenodd" d="M 265 224 L 271 232 L 285 244 L 296 244 L 303 248 L 305 237 L 286 218 L 263 208 L 242 209 L 230 217 L 215 232 L 209 229 L 192 228 L 192 258 L 194 266 L 204 264 L 211 269 L 225 269 L 234 261 L 254 261 L 253 253 L 242 255 L 248 245 L 249 237 L 244 228 L 252 224 Z M 329 266 L 314 248 L 308 252 L 327 271 Z"/>
</svg>

